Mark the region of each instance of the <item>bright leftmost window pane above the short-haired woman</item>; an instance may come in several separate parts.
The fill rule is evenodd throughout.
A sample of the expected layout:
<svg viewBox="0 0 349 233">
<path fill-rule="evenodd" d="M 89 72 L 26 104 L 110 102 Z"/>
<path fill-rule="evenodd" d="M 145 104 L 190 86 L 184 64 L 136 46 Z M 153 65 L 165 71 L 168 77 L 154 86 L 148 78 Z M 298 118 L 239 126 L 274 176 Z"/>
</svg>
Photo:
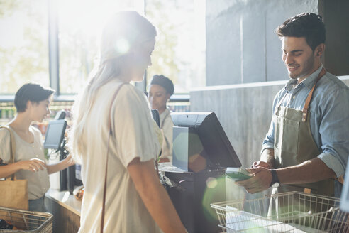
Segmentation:
<svg viewBox="0 0 349 233">
<path fill-rule="evenodd" d="M 0 94 L 26 82 L 48 86 L 47 1 L 0 1 L 0 35 Z"/>
</svg>

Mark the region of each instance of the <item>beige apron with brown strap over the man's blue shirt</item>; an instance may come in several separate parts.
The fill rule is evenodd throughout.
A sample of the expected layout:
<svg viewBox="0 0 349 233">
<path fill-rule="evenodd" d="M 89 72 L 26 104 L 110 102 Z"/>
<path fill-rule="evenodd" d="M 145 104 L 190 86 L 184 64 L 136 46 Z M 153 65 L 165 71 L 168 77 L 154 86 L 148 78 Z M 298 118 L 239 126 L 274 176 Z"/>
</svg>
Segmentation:
<svg viewBox="0 0 349 233">
<path fill-rule="evenodd" d="M 313 136 L 311 135 L 309 123 L 309 104 L 316 83 L 325 74 L 326 70 L 323 68 L 318 74 L 314 87 L 311 89 L 308 97 L 306 98 L 303 110 L 296 110 L 280 106 L 287 94 L 284 95 L 282 100 L 275 107 L 275 115 L 273 116 L 275 125 L 275 168 L 298 165 L 304 161 L 316 158 L 321 153 L 316 146 Z M 334 180 L 328 179 L 321 180 L 316 183 L 297 185 L 280 185 L 279 188 L 274 188 L 272 193 L 284 193 L 289 191 L 333 196 Z M 281 206 L 278 206 L 277 203 L 282 203 L 282 200 L 271 200 L 270 210 L 278 210 L 279 208 L 282 208 Z M 276 209 L 272 208 L 272 205 L 276 205 Z"/>
</svg>

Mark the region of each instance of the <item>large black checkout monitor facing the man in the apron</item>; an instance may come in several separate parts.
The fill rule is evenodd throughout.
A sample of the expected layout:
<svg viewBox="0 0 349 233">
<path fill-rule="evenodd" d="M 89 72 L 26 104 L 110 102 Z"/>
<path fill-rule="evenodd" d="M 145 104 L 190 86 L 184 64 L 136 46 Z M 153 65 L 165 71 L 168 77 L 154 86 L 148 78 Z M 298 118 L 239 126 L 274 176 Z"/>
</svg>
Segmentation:
<svg viewBox="0 0 349 233">
<path fill-rule="evenodd" d="M 171 117 L 174 126 L 192 129 L 189 130 L 189 134 L 192 134 L 193 131 L 197 134 L 204 148 L 200 156 L 204 157 L 211 166 L 224 168 L 241 166 L 240 160 L 214 112 L 178 112 L 172 113 Z M 189 146 L 193 141 L 197 141 L 193 136 L 189 136 L 188 139 Z M 175 164 L 173 165 L 175 166 Z"/>
</svg>

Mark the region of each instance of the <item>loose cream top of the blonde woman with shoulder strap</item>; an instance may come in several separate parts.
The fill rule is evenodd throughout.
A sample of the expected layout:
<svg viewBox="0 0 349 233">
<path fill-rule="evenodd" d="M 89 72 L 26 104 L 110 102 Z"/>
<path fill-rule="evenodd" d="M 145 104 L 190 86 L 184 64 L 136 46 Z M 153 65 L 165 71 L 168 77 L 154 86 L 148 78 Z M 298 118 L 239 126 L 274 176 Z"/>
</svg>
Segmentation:
<svg viewBox="0 0 349 233">
<path fill-rule="evenodd" d="M 82 156 L 85 190 L 79 232 L 100 231 L 109 109 L 119 85 L 119 80 L 112 80 L 100 87 L 91 113 L 86 115 L 81 136 L 86 154 Z M 127 170 L 133 158 L 154 160 L 160 152 L 150 106 L 143 92 L 132 85 L 121 87 L 111 108 L 111 128 L 104 232 L 160 232 Z"/>
</svg>

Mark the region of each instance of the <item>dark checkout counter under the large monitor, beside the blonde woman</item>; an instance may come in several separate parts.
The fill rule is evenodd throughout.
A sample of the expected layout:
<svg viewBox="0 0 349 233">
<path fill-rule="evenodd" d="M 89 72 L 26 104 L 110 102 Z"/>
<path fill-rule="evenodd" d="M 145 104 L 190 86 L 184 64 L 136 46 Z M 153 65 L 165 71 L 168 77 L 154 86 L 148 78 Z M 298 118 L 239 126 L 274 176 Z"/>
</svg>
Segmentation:
<svg viewBox="0 0 349 233">
<path fill-rule="evenodd" d="M 226 200 L 225 170 L 212 168 L 194 173 L 160 163 L 160 175 L 168 183 L 167 193 L 188 232 L 221 231 L 210 204 Z"/>
</svg>

